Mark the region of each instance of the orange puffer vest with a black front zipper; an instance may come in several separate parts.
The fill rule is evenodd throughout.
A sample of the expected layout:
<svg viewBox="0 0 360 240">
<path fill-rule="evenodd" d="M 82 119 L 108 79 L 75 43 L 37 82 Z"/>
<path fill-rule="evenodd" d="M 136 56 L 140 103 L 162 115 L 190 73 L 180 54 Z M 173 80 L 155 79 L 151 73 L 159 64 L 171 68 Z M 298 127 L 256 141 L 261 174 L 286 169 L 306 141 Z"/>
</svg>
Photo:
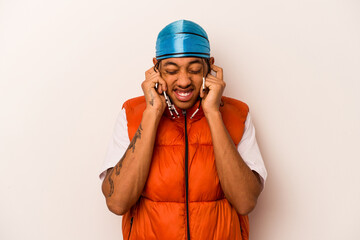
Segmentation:
<svg viewBox="0 0 360 240">
<path fill-rule="evenodd" d="M 244 132 L 248 107 L 223 97 L 220 111 L 237 145 Z M 249 237 L 248 216 L 226 200 L 216 170 L 210 128 L 199 101 L 180 118 L 166 109 L 160 120 L 149 176 L 138 202 L 123 216 L 124 239 L 185 240 Z M 124 103 L 130 140 L 146 107 L 144 97 Z"/>
</svg>

